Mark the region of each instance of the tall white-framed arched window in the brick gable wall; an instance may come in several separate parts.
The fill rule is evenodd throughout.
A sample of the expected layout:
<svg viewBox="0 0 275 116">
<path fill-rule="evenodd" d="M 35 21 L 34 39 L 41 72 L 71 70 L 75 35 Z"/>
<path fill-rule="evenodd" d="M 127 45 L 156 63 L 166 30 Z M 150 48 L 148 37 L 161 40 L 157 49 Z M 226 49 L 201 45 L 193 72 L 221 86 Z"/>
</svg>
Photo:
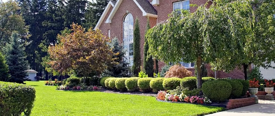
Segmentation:
<svg viewBox="0 0 275 116">
<path fill-rule="evenodd" d="M 126 52 L 124 60 L 133 65 L 133 30 L 134 19 L 132 14 L 127 14 L 123 20 L 123 48 Z"/>
</svg>

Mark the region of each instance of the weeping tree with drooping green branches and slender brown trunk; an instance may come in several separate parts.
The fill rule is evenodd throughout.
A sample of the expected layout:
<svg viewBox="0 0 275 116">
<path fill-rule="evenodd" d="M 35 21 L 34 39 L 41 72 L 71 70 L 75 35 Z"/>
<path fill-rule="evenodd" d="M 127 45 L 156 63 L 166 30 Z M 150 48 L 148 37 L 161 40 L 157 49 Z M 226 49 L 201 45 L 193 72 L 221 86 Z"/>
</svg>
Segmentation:
<svg viewBox="0 0 275 116">
<path fill-rule="evenodd" d="M 251 53 L 251 22 L 255 19 L 248 1 L 206 6 L 198 6 L 192 13 L 187 10 L 181 10 L 181 13 L 174 11 L 167 21 L 158 23 L 146 34 L 148 53 L 153 57 L 166 63 L 195 61 L 198 88 L 202 85 L 202 61 L 211 63 L 217 58 L 230 58 L 239 50 Z M 249 18 L 243 18 L 240 14 L 249 14 Z"/>
</svg>

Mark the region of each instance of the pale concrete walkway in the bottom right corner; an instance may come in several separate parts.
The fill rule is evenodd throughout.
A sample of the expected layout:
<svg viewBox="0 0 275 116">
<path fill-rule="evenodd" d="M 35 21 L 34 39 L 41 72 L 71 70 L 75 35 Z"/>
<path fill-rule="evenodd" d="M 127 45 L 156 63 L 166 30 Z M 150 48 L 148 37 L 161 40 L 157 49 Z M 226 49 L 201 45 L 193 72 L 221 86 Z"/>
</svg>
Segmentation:
<svg viewBox="0 0 275 116">
<path fill-rule="evenodd" d="M 275 100 L 259 100 L 258 104 L 226 110 L 206 116 L 275 116 Z"/>
</svg>

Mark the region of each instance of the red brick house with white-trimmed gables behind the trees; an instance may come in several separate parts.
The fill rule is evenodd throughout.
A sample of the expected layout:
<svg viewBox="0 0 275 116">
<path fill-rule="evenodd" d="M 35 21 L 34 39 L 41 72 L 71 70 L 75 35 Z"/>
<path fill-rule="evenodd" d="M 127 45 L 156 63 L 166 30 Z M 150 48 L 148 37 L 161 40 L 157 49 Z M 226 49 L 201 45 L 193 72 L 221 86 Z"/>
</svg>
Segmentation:
<svg viewBox="0 0 275 116">
<path fill-rule="evenodd" d="M 141 58 L 143 60 L 143 45 L 144 45 L 144 33 L 146 29 L 147 19 L 149 18 L 150 26 L 153 27 L 158 22 L 162 22 L 168 19 L 168 14 L 176 9 L 186 9 L 190 12 L 196 10 L 195 7 L 190 7 L 190 4 L 203 5 L 208 2 L 208 6 L 212 4 L 212 1 L 208 0 L 117 0 L 109 1 L 102 16 L 97 22 L 94 29 L 100 29 L 102 33 L 109 38 L 118 38 L 120 43 L 123 43 L 124 49 L 127 50 L 125 59 L 130 65 L 133 63 L 133 26 L 134 21 L 138 17 L 140 21 L 140 48 Z M 142 61 L 143 62 L 143 61 Z M 194 63 L 180 63 L 188 70 L 193 72 L 194 75 Z M 165 63 L 159 61 L 159 68 L 164 66 Z M 214 77 L 214 72 L 210 69 L 209 65 L 206 65 L 208 76 Z M 250 67 L 251 68 L 251 67 Z M 160 69 L 159 69 L 160 70 Z M 244 78 L 242 69 L 234 69 L 230 73 L 223 71 L 216 71 L 217 78 Z"/>
</svg>

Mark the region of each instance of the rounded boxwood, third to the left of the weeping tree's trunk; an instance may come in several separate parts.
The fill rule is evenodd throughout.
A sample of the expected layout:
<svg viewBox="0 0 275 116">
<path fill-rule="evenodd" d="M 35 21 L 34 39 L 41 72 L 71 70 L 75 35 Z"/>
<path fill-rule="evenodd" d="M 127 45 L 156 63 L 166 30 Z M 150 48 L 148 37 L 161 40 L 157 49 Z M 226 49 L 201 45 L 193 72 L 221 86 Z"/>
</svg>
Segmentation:
<svg viewBox="0 0 275 116">
<path fill-rule="evenodd" d="M 164 90 L 163 85 L 162 85 L 164 79 L 165 78 L 158 77 L 158 78 L 153 78 L 150 81 L 150 87 L 153 89 L 154 92 Z"/>
</svg>

